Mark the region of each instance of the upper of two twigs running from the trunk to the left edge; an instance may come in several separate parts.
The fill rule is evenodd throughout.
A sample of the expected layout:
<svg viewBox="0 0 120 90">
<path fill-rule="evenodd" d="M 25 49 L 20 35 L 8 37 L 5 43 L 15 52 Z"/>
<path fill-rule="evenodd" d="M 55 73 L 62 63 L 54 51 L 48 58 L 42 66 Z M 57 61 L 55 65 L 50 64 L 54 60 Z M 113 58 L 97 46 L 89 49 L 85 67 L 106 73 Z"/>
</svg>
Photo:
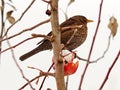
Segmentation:
<svg viewBox="0 0 120 90">
<path fill-rule="evenodd" d="M 40 23 L 38 23 L 38 24 L 30 27 L 30 28 L 27 28 L 27 29 L 22 30 L 21 32 L 15 34 L 15 35 L 12 35 L 12 36 L 10 36 L 10 37 L 8 37 L 8 38 L 2 39 L 2 40 L 0 40 L 0 42 L 5 41 L 5 40 L 8 40 L 8 39 L 12 39 L 12 38 L 14 38 L 14 37 L 16 37 L 16 36 L 18 36 L 18 35 L 21 35 L 21 34 L 24 33 L 24 32 L 31 31 L 31 30 L 39 27 L 39 26 L 42 25 L 42 24 L 48 23 L 49 21 L 50 21 L 50 19 L 47 19 L 47 20 L 45 20 L 45 21 L 42 21 L 42 22 L 40 22 Z"/>
</svg>

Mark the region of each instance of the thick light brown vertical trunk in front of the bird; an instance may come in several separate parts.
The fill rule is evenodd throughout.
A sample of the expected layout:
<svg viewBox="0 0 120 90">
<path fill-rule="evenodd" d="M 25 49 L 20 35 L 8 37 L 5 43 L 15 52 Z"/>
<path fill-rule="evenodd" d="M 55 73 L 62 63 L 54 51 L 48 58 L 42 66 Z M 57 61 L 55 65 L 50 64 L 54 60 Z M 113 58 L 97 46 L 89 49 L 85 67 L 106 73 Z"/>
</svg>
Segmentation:
<svg viewBox="0 0 120 90">
<path fill-rule="evenodd" d="M 65 90 L 65 81 L 64 81 L 64 69 L 63 61 L 60 58 L 60 45 L 61 45 L 61 33 L 59 30 L 59 21 L 58 21 L 58 0 L 52 0 L 51 2 L 51 26 L 53 33 L 53 53 L 54 53 L 54 62 L 55 62 L 55 79 L 57 90 Z"/>
</svg>

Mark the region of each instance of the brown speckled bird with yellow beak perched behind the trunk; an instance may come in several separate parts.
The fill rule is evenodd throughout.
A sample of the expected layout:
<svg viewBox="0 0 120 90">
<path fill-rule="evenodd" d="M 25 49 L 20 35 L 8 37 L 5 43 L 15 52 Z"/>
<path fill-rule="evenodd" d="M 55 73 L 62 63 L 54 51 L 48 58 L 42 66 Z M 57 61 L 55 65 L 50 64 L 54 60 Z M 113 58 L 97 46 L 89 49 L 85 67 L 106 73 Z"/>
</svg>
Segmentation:
<svg viewBox="0 0 120 90">
<path fill-rule="evenodd" d="M 93 20 L 88 20 L 84 16 L 76 15 L 67 19 L 60 25 L 61 43 L 64 44 L 66 49 L 73 50 L 79 47 L 86 40 L 88 22 L 93 22 Z M 52 35 L 52 32 L 48 34 L 48 36 L 51 36 L 51 35 Z M 20 60 L 24 61 L 25 59 L 33 56 L 38 52 L 52 49 L 52 44 L 47 39 L 43 39 L 42 41 L 40 41 L 39 44 L 40 45 L 35 49 L 22 55 L 20 57 Z"/>
</svg>

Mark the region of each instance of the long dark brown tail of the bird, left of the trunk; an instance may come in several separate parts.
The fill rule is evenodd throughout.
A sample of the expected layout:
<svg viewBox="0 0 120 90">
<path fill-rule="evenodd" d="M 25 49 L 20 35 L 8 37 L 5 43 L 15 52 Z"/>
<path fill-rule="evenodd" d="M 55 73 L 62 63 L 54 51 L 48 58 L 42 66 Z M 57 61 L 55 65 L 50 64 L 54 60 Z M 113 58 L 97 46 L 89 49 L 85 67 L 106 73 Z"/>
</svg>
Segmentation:
<svg viewBox="0 0 120 90">
<path fill-rule="evenodd" d="M 28 53 L 22 55 L 20 57 L 20 60 L 24 61 L 25 59 L 37 54 L 38 52 L 41 52 L 41 51 L 44 51 L 44 50 L 49 50 L 49 49 L 52 49 L 52 45 L 51 45 L 50 42 L 42 43 L 41 45 L 39 45 L 35 49 L 33 49 L 33 50 L 29 51 Z"/>
</svg>

